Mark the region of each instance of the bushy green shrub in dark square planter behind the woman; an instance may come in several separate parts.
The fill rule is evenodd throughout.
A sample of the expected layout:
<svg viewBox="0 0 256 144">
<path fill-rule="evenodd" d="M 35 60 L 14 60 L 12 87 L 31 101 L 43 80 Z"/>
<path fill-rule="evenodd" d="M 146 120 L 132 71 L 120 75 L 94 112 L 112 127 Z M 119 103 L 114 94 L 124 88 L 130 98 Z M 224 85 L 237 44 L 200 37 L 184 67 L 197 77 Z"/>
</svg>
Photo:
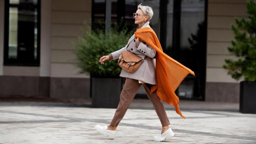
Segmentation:
<svg viewBox="0 0 256 144">
<path fill-rule="evenodd" d="M 105 31 L 97 26 L 83 30 L 83 35 L 75 43 L 76 55 L 74 65 L 79 73 L 90 74 L 92 107 L 116 108 L 120 99 L 122 82 L 119 77 L 121 68 L 117 61 L 106 61 L 104 65 L 99 59 L 111 52 L 119 50 L 126 45 L 130 33 L 126 27 L 119 28 L 113 24 L 112 28 Z"/>
</svg>

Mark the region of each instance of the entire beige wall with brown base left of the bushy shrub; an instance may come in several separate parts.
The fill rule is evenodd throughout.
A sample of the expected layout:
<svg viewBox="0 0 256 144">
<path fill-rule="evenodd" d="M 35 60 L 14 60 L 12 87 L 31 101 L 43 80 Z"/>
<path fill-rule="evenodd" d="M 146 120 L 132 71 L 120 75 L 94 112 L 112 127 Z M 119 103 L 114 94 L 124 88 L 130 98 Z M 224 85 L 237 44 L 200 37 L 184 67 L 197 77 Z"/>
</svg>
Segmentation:
<svg viewBox="0 0 256 144">
<path fill-rule="evenodd" d="M 91 0 L 41 0 L 40 66 L 3 66 L 0 0 L 0 97 L 90 99 L 90 79 L 77 74 L 71 42 L 82 34 L 84 20 L 90 24 L 91 6 Z"/>
</svg>

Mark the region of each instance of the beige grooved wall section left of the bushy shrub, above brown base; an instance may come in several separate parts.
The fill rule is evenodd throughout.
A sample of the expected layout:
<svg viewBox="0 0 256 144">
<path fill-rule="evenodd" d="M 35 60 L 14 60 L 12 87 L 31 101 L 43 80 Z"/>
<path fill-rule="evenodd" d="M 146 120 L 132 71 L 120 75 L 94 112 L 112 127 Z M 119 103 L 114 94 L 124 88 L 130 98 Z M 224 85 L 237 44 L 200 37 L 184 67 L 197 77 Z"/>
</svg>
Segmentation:
<svg viewBox="0 0 256 144">
<path fill-rule="evenodd" d="M 86 74 L 76 74 L 71 42 L 82 35 L 84 20 L 90 24 L 92 1 L 52 0 L 51 5 L 51 76 L 88 78 Z"/>
</svg>

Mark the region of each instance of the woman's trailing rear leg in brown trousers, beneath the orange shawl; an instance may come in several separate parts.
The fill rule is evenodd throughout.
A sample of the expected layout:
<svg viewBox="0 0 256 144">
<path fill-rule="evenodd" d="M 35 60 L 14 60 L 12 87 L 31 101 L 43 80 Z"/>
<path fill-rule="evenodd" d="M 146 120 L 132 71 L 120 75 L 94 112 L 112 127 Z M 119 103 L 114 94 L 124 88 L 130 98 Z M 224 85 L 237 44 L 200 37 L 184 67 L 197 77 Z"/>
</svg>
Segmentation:
<svg viewBox="0 0 256 144">
<path fill-rule="evenodd" d="M 152 86 L 151 84 L 144 83 L 144 84 L 142 84 L 142 86 L 146 90 L 147 96 L 150 99 L 150 101 L 152 102 L 154 109 L 156 110 L 156 114 L 157 114 L 158 118 L 160 119 L 160 122 L 163 127 L 162 132 L 164 132 L 166 129 L 169 128 L 169 124 L 170 124 L 169 118 L 164 109 L 164 105 L 163 105 L 162 101 L 158 98 L 158 96 L 156 95 L 156 92 L 153 92 L 152 94 L 150 94 L 150 90 L 151 90 L 151 86 Z"/>
</svg>

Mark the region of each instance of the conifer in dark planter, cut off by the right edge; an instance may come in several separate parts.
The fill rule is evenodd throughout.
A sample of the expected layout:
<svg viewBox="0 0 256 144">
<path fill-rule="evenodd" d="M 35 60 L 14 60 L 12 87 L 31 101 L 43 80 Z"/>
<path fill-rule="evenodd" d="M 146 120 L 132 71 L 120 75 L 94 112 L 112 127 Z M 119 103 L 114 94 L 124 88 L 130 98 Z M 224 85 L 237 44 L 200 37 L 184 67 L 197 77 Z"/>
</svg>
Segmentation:
<svg viewBox="0 0 256 144">
<path fill-rule="evenodd" d="M 223 68 L 228 70 L 232 78 L 240 82 L 240 112 L 256 113 L 256 5 L 248 0 L 248 19 L 235 18 L 237 26 L 231 24 L 234 40 L 228 51 L 238 57 L 238 60 L 225 59 Z"/>
</svg>

